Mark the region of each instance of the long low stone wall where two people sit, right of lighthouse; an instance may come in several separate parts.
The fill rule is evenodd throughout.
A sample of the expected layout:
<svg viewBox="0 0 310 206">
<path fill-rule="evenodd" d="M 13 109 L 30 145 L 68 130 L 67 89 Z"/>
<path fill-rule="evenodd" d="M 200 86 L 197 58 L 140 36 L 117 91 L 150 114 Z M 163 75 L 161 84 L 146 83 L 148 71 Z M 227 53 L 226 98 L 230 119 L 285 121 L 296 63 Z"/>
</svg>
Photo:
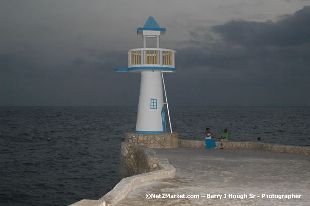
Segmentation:
<svg viewBox="0 0 310 206">
<path fill-rule="evenodd" d="M 220 142 L 216 142 L 216 149 L 220 147 Z M 197 140 L 179 140 L 179 147 L 205 148 L 205 141 Z M 226 142 L 223 143 L 224 149 L 249 149 L 249 150 L 265 150 L 272 152 L 284 152 L 310 155 L 310 147 L 276 145 L 261 142 Z"/>
</svg>

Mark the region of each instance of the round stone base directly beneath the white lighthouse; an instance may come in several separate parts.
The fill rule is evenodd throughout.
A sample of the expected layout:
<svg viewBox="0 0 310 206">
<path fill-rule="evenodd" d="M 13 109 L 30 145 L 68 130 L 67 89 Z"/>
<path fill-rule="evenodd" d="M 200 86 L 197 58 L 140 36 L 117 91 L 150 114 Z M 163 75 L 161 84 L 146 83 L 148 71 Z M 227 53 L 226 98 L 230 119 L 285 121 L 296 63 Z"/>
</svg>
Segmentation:
<svg viewBox="0 0 310 206">
<path fill-rule="evenodd" d="M 135 145 L 147 146 L 150 148 L 177 148 L 178 134 L 164 133 L 164 134 L 137 134 L 126 133 L 125 142 L 133 143 Z"/>
</svg>

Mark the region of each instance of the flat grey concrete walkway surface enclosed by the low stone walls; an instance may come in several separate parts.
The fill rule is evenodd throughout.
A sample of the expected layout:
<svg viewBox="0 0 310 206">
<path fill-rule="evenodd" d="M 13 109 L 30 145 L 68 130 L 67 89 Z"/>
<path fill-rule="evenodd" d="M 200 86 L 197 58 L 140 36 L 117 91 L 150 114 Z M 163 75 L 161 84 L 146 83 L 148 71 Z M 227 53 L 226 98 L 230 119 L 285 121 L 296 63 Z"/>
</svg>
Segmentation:
<svg viewBox="0 0 310 206">
<path fill-rule="evenodd" d="M 176 168 L 176 177 L 136 186 L 117 206 L 310 206 L 309 155 L 192 148 L 155 151 Z M 147 199 L 146 194 L 200 197 Z M 279 197 L 292 194 L 295 198 Z"/>
</svg>

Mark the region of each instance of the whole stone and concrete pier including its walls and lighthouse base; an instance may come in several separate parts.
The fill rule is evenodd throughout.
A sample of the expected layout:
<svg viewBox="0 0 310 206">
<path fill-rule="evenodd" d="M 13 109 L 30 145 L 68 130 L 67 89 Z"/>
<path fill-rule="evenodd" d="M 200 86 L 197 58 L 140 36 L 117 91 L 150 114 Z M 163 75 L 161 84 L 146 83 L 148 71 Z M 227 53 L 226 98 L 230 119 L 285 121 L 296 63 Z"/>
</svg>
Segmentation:
<svg viewBox="0 0 310 206">
<path fill-rule="evenodd" d="M 154 141 L 145 145 L 147 138 Z M 204 149 L 197 140 L 177 147 L 177 138 L 125 134 L 120 174 L 127 177 L 99 200 L 70 206 L 309 206 L 310 147 L 216 142 Z"/>
</svg>

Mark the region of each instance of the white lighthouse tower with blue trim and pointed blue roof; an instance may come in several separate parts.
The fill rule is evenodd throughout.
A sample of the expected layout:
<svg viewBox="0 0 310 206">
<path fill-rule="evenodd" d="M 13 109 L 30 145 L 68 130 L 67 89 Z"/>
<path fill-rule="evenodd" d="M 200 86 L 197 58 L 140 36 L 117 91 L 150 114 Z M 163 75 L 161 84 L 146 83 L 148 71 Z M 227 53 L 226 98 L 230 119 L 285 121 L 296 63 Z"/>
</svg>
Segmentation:
<svg viewBox="0 0 310 206">
<path fill-rule="evenodd" d="M 169 108 L 163 72 L 175 72 L 175 53 L 171 49 L 159 48 L 159 37 L 166 29 L 161 28 L 153 17 L 149 17 L 144 27 L 139 27 L 138 35 L 143 37 L 143 48 L 128 51 L 128 67 L 117 68 L 116 72 L 141 73 L 140 96 L 136 133 L 166 133 L 165 106 L 167 105 L 169 124 Z M 146 38 L 156 38 L 156 48 L 147 48 Z M 163 85 L 166 102 L 163 98 Z M 171 124 L 170 124 L 170 132 Z"/>
</svg>

